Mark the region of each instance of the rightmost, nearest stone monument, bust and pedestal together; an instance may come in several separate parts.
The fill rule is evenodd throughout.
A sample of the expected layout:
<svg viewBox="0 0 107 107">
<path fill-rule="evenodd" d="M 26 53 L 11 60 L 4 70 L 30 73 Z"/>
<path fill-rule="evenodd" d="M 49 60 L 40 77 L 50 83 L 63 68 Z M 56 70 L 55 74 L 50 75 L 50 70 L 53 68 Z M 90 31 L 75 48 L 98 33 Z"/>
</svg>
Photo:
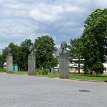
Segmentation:
<svg viewBox="0 0 107 107">
<path fill-rule="evenodd" d="M 61 43 L 59 62 L 59 78 L 69 78 L 69 51 L 67 50 L 66 42 Z"/>
</svg>

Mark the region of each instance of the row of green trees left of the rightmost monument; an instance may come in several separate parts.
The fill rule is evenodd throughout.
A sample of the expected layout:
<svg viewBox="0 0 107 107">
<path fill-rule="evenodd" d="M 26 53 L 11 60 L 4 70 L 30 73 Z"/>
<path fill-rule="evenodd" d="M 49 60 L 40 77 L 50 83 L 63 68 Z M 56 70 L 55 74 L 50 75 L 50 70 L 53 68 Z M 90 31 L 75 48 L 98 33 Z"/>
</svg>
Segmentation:
<svg viewBox="0 0 107 107">
<path fill-rule="evenodd" d="M 28 67 L 28 54 L 29 47 L 32 45 L 30 39 L 23 41 L 20 46 L 15 43 L 10 43 L 8 46 L 12 48 L 13 63 L 18 64 L 20 70 L 27 70 Z M 56 50 L 54 40 L 48 35 L 38 37 L 35 39 L 33 44 L 36 51 L 36 67 L 37 68 L 50 68 L 57 66 L 58 60 L 54 58 L 53 51 Z M 6 61 L 7 47 L 3 50 L 2 55 L 0 55 L 0 66 Z"/>
</svg>

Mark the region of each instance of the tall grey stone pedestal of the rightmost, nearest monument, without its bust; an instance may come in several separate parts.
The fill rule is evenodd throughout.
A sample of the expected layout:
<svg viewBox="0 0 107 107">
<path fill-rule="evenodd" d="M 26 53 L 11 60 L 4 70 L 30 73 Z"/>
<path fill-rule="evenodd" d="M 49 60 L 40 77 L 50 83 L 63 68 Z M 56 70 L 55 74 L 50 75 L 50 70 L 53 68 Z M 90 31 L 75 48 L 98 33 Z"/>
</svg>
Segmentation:
<svg viewBox="0 0 107 107">
<path fill-rule="evenodd" d="M 59 54 L 59 78 L 68 79 L 69 78 L 69 53 L 61 52 Z"/>
</svg>

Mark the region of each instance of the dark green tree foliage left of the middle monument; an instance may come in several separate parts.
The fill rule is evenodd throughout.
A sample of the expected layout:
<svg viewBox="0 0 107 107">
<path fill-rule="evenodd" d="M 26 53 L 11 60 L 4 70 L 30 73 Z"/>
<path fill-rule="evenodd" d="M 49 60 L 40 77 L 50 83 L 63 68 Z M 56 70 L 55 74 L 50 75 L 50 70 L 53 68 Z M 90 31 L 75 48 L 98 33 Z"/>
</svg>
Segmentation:
<svg viewBox="0 0 107 107">
<path fill-rule="evenodd" d="M 20 46 L 10 43 L 8 46 L 12 49 L 12 56 L 13 56 L 13 64 L 18 64 L 20 70 L 27 71 L 28 68 L 28 54 L 29 54 L 29 47 L 32 44 L 30 39 L 26 39 L 24 42 L 21 43 Z M 3 66 L 4 62 L 6 62 L 7 56 L 7 47 L 3 49 L 2 55 L 0 55 L 0 64 Z"/>
</svg>

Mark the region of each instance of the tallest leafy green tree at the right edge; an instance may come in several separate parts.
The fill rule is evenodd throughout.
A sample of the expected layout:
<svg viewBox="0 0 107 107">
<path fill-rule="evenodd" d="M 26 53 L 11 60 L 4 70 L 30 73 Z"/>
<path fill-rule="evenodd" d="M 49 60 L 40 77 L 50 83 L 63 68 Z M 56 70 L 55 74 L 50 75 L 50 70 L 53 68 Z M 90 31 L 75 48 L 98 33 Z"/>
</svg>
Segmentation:
<svg viewBox="0 0 107 107">
<path fill-rule="evenodd" d="M 107 9 L 97 9 L 85 22 L 81 37 L 81 52 L 85 59 L 84 70 L 95 70 L 95 65 L 103 63 L 107 52 Z M 94 68 L 94 69 L 93 69 Z M 98 68 L 97 68 L 98 69 Z"/>
</svg>

